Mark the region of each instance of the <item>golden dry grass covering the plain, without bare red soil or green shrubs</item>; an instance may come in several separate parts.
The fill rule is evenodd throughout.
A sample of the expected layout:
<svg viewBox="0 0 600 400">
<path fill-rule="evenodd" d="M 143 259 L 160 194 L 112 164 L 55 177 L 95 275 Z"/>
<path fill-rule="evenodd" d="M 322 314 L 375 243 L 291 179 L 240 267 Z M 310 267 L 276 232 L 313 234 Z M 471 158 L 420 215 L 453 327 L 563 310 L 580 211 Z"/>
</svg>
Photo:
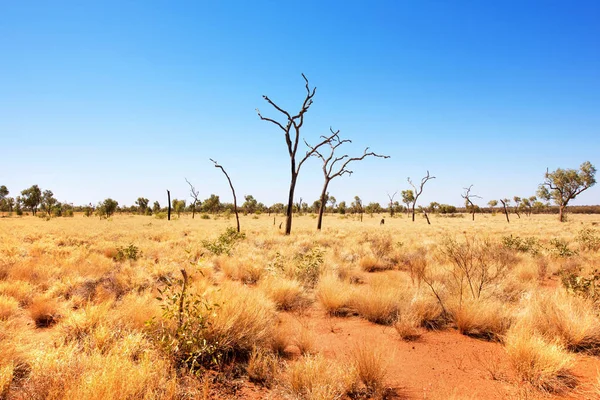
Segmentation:
<svg viewBox="0 0 600 400">
<path fill-rule="evenodd" d="M 380 227 L 379 219 L 361 223 L 326 216 L 324 231 L 315 233 L 315 221 L 305 216 L 294 220 L 294 233 L 286 237 L 272 217 L 247 216 L 246 240 L 231 256 L 218 257 L 201 243 L 231 225 L 225 218 L 3 218 L 0 398 L 226 397 L 210 377 L 175 371 L 172 358 L 156 345 L 157 331 L 146 325 L 162 320 L 156 290 L 180 277 L 182 266 L 194 275 L 193 290 L 211 305 L 203 314 L 209 322 L 206 339 L 232 356 L 225 360 L 248 362 L 252 380 L 281 386 L 293 397 L 364 397 L 367 389 L 379 396 L 385 387 L 385 366 L 393 355 L 365 346 L 342 366 L 336 364 L 340 355 L 318 354 L 323 346 L 317 328 L 323 327 L 311 318 L 322 309 L 393 325 L 403 340 L 417 339 L 423 328 L 454 326 L 485 339 L 505 334 L 521 380 L 545 392 L 566 391 L 573 384 L 568 351 L 598 352 L 600 322 L 589 301 L 546 282 L 563 269 L 591 270 L 600 265 L 598 254 L 582 248 L 571 258 L 516 256 L 496 246 L 511 234 L 536 237 L 544 246 L 551 238 L 573 244 L 582 226 L 597 221 L 571 216 L 572 222 L 559 224 L 554 218 L 521 218 L 509 225 L 501 216 L 476 223 L 432 216 L 431 226 L 392 219 Z M 485 260 L 510 264 L 485 282 L 477 298 L 458 296 L 469 288 L 453 280 L 452 264 L 436 250 L 444 238 L 463 235 L 494 244 L 487 253 L 477 247 Z M 117 249 L 130 244 L 139 248 L 140 258 L 116 261 Z M 488 272 L 494 274 L 498 265 Z M 423 278 L 431 278 L 431 287 Z M 297 360 L 288 360 L 283 371 L 276 355 Z"/>
</svg>

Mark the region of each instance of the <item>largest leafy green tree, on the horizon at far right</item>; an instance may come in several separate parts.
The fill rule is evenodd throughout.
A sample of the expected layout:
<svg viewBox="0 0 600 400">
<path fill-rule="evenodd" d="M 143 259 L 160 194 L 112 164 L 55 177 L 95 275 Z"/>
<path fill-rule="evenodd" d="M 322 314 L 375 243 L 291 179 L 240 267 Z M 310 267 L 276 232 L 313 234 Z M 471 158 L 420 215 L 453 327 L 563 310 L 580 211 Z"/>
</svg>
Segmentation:
<svg viewBox="0 0 600 400">
<path fill-rule="evenodd" d="M 544 175 L 544 182 L 538 189 L 538 197 L 552 200 L 558 206 L 558 219 L 564 222 L 564 211 L 569 201 L 573 200 L 584 190 L 596 184 L 596 168 L 589 161 L 575 169 L 561 169 Z"/>
</svg>

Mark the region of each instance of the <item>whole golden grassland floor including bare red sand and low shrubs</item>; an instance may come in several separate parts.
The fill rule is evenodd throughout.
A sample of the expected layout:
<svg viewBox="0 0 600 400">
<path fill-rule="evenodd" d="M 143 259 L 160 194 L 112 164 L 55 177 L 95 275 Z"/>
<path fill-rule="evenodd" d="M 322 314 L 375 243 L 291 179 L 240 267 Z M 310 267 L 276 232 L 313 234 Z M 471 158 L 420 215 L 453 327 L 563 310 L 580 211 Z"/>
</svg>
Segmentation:
<svg viewBox="0 0 600 400">
<path fill-rule="evenodd" d="M 600 398 L 600 215 L 381 217 L 0 218 L 0 399 Z"/>
</svg>

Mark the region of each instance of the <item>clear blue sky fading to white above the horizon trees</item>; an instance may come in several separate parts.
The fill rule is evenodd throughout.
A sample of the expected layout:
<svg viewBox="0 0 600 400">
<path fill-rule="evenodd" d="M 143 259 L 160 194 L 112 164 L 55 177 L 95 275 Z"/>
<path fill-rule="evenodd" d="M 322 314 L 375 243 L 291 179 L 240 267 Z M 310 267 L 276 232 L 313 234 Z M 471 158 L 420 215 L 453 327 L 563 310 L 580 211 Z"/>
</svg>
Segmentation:
<svg viewBox="0 0 600 400">
<path fill-rule="evenodd" d="M 529 196 L 546 168 L 600 168 L 598 1 L 0 1 L 0 184 L 61 201 L 165 189 L 285 202 L 289 158 L 269 95 L 309 142 L 340 129 L 390 155 L 336 179 L 387 202 L 429 170 L 423 203 Z M 600 176 L 598 177 L 600 180 Z M 296 197 L 320 192 L 317 159 Z M 600 184 L 573 204 L 600 204 Z"/>
</svg>

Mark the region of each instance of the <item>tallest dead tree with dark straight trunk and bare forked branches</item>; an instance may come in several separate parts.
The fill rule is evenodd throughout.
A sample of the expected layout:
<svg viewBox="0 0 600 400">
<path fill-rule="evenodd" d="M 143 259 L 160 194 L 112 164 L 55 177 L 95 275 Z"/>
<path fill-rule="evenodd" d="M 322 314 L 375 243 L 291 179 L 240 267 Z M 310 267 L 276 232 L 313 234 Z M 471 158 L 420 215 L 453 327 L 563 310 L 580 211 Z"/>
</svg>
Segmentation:
<svg viewBox="0 0 600 400">
<path fill-rule="evenodd" d="M 296 160 L 296 153 L 298 152 L 298 144 L 300 142 L 300 129 L 302 128 L 302 125 L 304 124 L 304 114 L 306 114 L 306 112 L 312 105 L 313 97 L 315 96 L 315 92 L 317 90 L 316 87 L 313 87 L 312 89 L 310 89 L 310 87 L 308 85 L 308 79 L 306 79 L 306 76 L 304 76 L 304 74 L 302 74 L 302 78 L 304 78 L 304 81 L 306 83 L 305 84 L 306 97 L 304 98 L 304 102 L 302 103 L 302 107 L 300 108 L 300 111 L 298 112 L 298 114 L 296 114 L 296 115 L 290 114 L 288 111 L 284 110 L 283 108 L 281 108 L 277 104 L 275 104 L 267 96 L 263 96 L 263 99 L 265 99 L 267 101 L 267 103 L 269 103 L 277 111 L 279 111 L 280 113 L 282 113 L 284 115 L 285 122 L 282 123 L 282 122 L 276 121 L 272 118 L 263 117 L 261 115 L 260 111 L 258 109 L 256 109 L 256 112 L 258 113 L 258 116 L 260 117 L 261 120 L 271 122 L 283 131 L 284 137 L 285 137 L 285 143 L 287 144 L 288 153 L 290 155 L 291 179 L 290 179 L 290 190 L 289 190 L 289 195 L 288 195 L 288 204 L 287 204 L 286 220 L 285 220 L 285 234 L 286 235 L 289 235 L 292 232 L 292 212 L 293 212 L 293 206 L 294 206 L 294 190 L 296 189 L 296 182 L 298 180 L 298 174 L 300 173 L 300 168 L 302 167 L 302 164 L 304 164 L 304 162 L 306 160 L 308 160 L 310 158 L 310 156 L 312 156 L 319 147 L 323 146 L 326 143 L 329 143 L 333 139 L 333 137 L 335 135 L 337 135 L 336 133 L 334 133 L 334 134 L 332 134 L 332 136 L 323 137 L 323 140 L 320 143 L 316 144 L 313 148 L 309 149 L 309 151 L 306 152 L 304 157 L 302 157 L 302 159 L 300 159 L 299 162 L 298 162 L 298 160 Z"/>
</svg>

